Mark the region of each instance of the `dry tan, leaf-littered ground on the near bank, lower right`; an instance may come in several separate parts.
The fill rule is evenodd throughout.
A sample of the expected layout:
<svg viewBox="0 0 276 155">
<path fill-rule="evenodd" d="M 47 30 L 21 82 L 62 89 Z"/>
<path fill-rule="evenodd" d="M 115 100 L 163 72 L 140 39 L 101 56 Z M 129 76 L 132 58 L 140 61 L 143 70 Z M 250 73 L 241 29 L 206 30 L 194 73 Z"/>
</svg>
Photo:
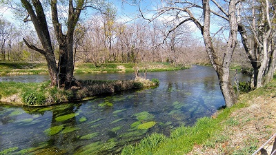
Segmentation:
<svg viewBox="0 0 276 155">
<path fill-rule="evenodd" d="M 257 90 L 258 91 L 258 90 Z M 262 95 L 244 94 L 240 100 L 247 107 L 236 110 L 221 123 L 224 131 L 204 145 L 195 145 L 189 155 L 195 154 L 253 154 L 276 134 L 276 88 L 266 87 Z M 273 141 L 266 146 L 270 154 Z M 268 147 L 268 148 L 267 148 Z M 270 149 L 270 150 L 269 150 Z"/>
</svg>

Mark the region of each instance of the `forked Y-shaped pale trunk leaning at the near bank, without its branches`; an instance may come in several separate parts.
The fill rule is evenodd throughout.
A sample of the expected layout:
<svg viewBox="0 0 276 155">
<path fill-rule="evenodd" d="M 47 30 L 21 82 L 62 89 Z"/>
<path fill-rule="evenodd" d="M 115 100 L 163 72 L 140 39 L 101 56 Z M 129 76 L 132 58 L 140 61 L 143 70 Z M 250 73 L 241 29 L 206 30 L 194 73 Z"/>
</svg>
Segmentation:
<svg viewBox="0 0 276 155">
<path fill-rule="evenodd" d="M 233 106 L 237 102 L 237 94 L 235 94 L 233 86 L 230 83 L 230 62 L 232 59 L 233 52 L 237 45 L 237 19 L 235 16 L 235 1 L 231 0 L 229 2 L 229 24 L 230 32 L 228 37 L 228 43 L 226 52 L 224 52 L 224 58 L 219 61 L 217 57 L 217 52 L 213 47 L 212 38 L 210 37 L 210 6 L 209 0 L 203 1 L 204 10 L 204 27 L 203 27 L 203 37 L 206 46 L 206 51 L 208 53 L 210 63 L 217 72 L 219 78 L 219 86 L 221 92 L 224 96 L 224 100 L 227 107 Z"/>
</svg>

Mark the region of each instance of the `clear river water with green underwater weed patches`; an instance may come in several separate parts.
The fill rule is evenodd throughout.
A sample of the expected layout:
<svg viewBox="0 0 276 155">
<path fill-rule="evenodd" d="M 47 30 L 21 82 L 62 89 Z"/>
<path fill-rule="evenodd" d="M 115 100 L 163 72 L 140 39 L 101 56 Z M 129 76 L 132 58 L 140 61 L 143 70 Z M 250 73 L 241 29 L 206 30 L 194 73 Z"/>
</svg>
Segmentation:
<svg viewBox="0 0 276 155">
<path fill-rule="evenodd" d="M 131 73 L 81 74 L 77 79 L 133 79 Z M 0 103 L 0 154 L 117 154 L 148 134 L 169 135 L 224 105 L 210 67 L 150 72 L 158 87 L 48 107 Z M 1 81 L 41 82 L 47 75 L 2 76 Z M 248 76 L 239 75 L 240 81 Z"/>
</svg>

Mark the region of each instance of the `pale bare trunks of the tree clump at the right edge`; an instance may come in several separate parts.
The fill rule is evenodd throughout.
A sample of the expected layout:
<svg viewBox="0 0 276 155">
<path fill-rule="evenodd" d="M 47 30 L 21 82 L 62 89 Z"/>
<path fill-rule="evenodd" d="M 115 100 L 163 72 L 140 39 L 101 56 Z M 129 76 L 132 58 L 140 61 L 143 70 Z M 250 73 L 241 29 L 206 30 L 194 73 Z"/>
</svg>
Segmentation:
<svg viewBox="0 0 276 155">
<path fill-rule="evenodd" d="M 253 33 L 253 41 L 247 35 L 245 26 L 239 21 L 239 34 L 242 37 L 242 43 L 250 63 L 253 67 L 253 76 L 251 87 L 262 87 L 273 79 L 275 72 L 275 45 L 273 46 L 272 26 L 269 15 L 268 1 L 259 3 L 259 14 L 255 14 L 255 4 L 252 4 L 252 24 L 250 31 Z M 240 8 L 239 8 L 240 9 Z M 258 21 L 256 21 L 256 17 Z M 241 17 L 241 14 L 237 14 Z M 253 43 L 251 43 L 253 42 Z"/>
</svg>

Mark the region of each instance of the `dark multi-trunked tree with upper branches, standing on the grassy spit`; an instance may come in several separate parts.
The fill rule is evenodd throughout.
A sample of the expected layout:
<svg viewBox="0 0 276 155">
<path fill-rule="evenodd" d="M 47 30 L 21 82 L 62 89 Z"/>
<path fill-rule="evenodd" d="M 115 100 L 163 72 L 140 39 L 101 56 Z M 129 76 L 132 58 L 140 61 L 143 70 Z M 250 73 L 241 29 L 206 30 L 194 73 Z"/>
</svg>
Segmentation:
<svg viewBox="0 0 276 155">
<path fill-rule="evenodd" d="M 41 48 L 32 45 L 26 39 L 23 39 L 23 41 L 28 45 L 28 48 L 39 52 L 45 57 L 52 85 L 70 87 L 74 83 L 74 32 L 81 12 L 86 8 L 104 10 L 102 6 L 107 6 L 106 2 L 103 0 L 21 0 L 21 6 L 23 6 L 23 12 L 27 14 L 23 21 L 32 22 L 41 42 Z M 16 9 L 22 10 L 20 7 Z M 58 63 L 56 63 L 55 52 L 52 47 L 49 30 L 50 23 L 46 19 L 46 14 L 49 13 L 48 11 L 51 13 L 51 24 L 53 25 L 55 37 L 59 44 Z M 64 16 L 65 14 L 67 14 L 67 17 Z"/>
</svg>

